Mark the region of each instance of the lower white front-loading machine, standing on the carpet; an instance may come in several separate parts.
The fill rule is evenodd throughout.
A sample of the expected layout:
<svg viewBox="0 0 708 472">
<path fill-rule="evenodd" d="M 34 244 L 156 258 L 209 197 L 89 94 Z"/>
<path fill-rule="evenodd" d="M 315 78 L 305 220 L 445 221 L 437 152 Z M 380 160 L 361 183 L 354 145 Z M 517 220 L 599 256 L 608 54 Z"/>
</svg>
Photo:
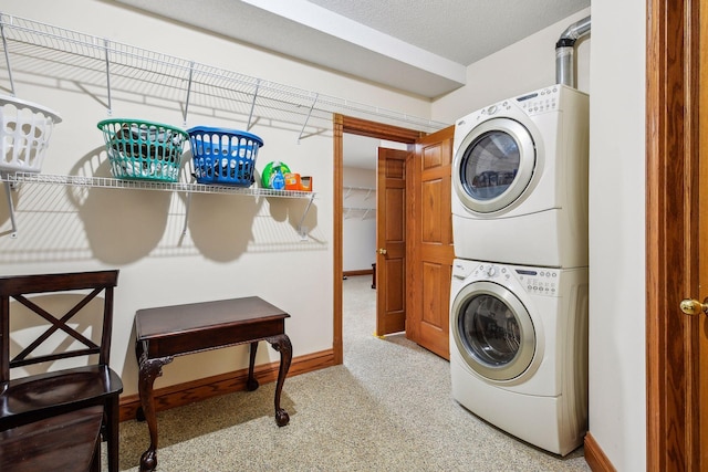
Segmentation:
<svg viewBox="0 0 708 472">
<path fill-rule="evenodd" d="M 450 292 L 452 397 L 555 454 L 587 430 L 587 268 L 458 260 Z"/>
</svg>

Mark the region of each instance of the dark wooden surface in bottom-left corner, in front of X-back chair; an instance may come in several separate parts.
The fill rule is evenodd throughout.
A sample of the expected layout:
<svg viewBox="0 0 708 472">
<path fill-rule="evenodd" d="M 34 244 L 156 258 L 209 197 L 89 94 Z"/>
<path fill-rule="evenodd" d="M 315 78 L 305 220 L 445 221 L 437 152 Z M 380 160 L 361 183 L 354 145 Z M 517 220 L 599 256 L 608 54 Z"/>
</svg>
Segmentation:
<svg viewBox="0 0 708 472">
<path fill-rule="evenodd" d="M 0 432 L 0 471 L 101 470 L 102 407 L 88 407 Z"/>
</svg>

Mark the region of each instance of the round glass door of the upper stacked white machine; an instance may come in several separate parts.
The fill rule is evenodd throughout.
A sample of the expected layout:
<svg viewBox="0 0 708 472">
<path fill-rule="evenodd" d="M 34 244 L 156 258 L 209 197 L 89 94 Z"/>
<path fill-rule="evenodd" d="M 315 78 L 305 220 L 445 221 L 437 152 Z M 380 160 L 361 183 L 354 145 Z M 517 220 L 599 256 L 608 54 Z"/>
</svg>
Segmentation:
<svg viewBox="0 0 708 472">
<path fill-rule="evenodd" d="M 468 209 L 489 213 L 513 203 L 535 168 L 531 133 L 511 118 L 492 118 L 475 127 L 455 155 L 452 185 Z"/>
</svg>

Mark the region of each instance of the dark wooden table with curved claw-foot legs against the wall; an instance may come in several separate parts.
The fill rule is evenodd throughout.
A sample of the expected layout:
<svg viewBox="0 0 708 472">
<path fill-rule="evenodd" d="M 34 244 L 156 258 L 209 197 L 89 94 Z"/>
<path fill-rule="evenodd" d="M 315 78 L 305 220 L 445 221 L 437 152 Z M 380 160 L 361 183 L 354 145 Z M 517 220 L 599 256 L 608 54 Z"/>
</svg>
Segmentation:
<svg viewBox="0 0 708 472">
<path fill-rule="evenodd" d="M 267 340 L 280 352 L 275 422 L 279 427 L 288 424 L 290 417 L 280 408 L 280 395 L 292 360 L 292 346 L 285 335 L 288 317 L 288 313 L 257 296 L 137 311 L 135 353 L 139 366 L 138 394 L 150 433 L 150 445 L 140 457 L 140 471 L 152 471 L 157 466 L 153 385 L 163 375 L 163 366 L 171 363 L 175 356 L 250 343 L 247 388 L 256 390 L 256 350 L 260 340 Z"/>
</svg>

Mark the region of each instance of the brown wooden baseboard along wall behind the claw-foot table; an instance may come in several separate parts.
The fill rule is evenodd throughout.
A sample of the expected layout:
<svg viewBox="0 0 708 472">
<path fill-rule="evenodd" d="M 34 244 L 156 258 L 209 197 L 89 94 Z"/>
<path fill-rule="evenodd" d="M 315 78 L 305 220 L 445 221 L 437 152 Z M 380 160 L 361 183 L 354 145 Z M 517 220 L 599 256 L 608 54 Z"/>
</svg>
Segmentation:
<svg viewBox="0 0 708 472">
<path fill-rule="evenodd" d="M 288 377 L 311 373 L 334 366 L 334 353 L 332 349 L 320 353 L 306 354 L 292 359 Z M 254 375 L 258 381 L 269 384 L 278 380 L 280 361 L 256 366 Z M 248 368 L 185 384 L 173 385 L 156 389 L 154 392 L 155 409 L 157 411 L 183 407 L 196 401 L 206 400 L 220 395 L 246 390 Z M 283 387 L 288 391 L 288 381 Z M 135 419 L 140 399 L 137 394 L 121 397 L 121 421 Z"/>
</svg>

